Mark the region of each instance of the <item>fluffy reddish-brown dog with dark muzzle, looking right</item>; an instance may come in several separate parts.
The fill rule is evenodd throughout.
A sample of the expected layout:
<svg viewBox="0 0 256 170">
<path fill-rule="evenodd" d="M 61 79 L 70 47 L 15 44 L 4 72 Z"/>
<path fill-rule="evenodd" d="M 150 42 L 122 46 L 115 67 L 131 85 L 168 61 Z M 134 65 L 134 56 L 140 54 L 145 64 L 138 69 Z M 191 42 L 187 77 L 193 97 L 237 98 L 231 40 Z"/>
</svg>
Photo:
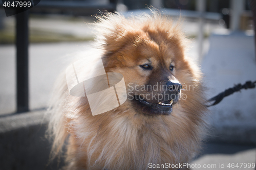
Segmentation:
<svg viewBox="0 0 256 170">
<path fill-rule="evenodd" d="M 106 14 L 96 27 L 105 71 L 123 75 L 128 99 L 93 116 L 87 98 L 70 95 L 66 80 L 59 81 L 50 110 L 52 156 L 68 139 L 67 169 L 186 169 L 172 165 L 199 150 L 206 100 L 180 27 L 158 12 Z"/>
</svg>

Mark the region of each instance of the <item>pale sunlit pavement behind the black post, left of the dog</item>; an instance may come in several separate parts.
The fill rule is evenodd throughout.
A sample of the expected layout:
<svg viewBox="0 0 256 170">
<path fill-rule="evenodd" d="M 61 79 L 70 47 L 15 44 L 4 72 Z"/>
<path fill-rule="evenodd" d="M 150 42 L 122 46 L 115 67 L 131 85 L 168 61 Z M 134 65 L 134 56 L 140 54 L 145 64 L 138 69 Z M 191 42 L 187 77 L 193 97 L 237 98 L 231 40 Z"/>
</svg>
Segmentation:
<svg viewBox="0 0 256 170">
<path fill-rule="evenodd" d="M 89 42 L 31 44 L 29 48 L 30 109 L 46 107 L 52 86 L 75 53 L 89 48 Z M 0 114 L 15 111 L 15 48 L 0 46 Z"/>
</svg>

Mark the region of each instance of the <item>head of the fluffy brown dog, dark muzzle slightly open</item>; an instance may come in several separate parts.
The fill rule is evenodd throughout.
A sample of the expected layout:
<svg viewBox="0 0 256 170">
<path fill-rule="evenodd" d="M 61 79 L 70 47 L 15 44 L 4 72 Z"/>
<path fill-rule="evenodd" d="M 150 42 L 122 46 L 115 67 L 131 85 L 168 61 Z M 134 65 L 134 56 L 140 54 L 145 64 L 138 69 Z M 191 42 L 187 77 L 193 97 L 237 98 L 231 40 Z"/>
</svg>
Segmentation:
<svg viewBox="0 0 256 170">
<path fill-rule="evenodd" d="M 106 71 L 124 76 L 127 98 L 138 113 L 164 114 L 179 103 L 184 85 L 195 78 L 185 57 L 186 38 L 168 17 L 154 13 L 125 19 L 102 19 Z M 197 68 L 195 68 L 197 69 Z"/>
</svg>

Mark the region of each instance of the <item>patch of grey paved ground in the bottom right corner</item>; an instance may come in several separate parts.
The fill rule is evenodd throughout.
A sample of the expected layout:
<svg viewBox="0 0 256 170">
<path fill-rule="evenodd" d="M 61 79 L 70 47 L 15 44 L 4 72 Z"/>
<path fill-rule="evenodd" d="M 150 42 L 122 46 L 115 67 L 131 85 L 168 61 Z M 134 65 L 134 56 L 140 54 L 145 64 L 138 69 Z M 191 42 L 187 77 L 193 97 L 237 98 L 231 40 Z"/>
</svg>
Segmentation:
<svg viewBox="0 0 256 170">
<path fill-rule="evenodd" d="M 232 167 L 232 163 L 239 167 Z M 242 165 L 242 163 L 244 163 Z M 202 154 L 191 162 L 191 169 L 255 169 L 256 149 L 254 145 L 237 145 L 227 143 L 206 143 Z M 194 165 L 194 166 L 193 166 Z M 197 165 L 197 166 L 196 166 Z M 201 165 L 201 167 L 200 167 Z M 203 168 L 206 165 L 207 168 Z M 230 165 L 231 167 L 228 167 Z M 242 165 L 242 167 L 241 167 Z M 254 164 L 255 165 L 255 164 Z"/>
</svg>

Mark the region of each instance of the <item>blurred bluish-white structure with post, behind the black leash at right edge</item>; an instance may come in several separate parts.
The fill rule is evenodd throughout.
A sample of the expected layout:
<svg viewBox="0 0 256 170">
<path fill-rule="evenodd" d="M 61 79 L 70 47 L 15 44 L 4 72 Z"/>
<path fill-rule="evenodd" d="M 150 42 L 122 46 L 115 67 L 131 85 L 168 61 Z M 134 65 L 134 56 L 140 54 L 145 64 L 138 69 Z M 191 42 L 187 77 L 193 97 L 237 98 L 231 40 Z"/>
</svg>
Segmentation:
<svg viewBox="0 0 256 170">
<path fill-rule="evenodd" d="M 234 84 L 256 80 L 253 34 L 239 31 L 244 1 L 232 0 L 231 7 L 231 31 L 210 36 L 210 48 L 202 62 L 209 98 Z M 243 89 L 227 96 L 210 110 L 214 138 L 256 142 L 256 89 Z"/>
</svg>

